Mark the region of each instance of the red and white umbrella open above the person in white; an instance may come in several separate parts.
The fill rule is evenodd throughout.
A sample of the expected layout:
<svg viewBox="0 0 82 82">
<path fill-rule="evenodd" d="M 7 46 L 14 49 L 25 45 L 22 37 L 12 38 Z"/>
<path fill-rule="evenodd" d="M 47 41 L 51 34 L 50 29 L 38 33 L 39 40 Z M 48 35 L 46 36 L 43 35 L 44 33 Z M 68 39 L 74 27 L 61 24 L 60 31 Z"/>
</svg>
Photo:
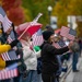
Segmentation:
<svg viewBox="0 0 82 82">
<path fill-rule="evenodd" d="M 30 25 L 30 24 L 31 24 L 31 22 L 19 25 L 17 28 L 16 28 L 16 33 L 17 33 L 19 35 L 21 35 L 21 34 L 28 27 L 28 28 L 26 30 L 25 34 L 30 34 L 30 35 L 32 36 L 32 35 L 33 35 L 35 32 L 37 32 L 37 31 L 42 27 L 42 25 L 43 25 L 43 24 L 40 24 L 40 23 L 34 23 L 34 24 L 32 24 L 32 25 Z"/>
</svg>

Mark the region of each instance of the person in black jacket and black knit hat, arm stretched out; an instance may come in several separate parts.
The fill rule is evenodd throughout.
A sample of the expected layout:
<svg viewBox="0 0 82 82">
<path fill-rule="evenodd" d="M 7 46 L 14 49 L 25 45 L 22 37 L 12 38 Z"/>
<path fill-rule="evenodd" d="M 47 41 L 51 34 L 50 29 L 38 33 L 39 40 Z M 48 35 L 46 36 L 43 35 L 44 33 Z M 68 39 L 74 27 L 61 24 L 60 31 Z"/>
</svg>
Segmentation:
<svg viewBox="0 0 82 82">
<path fill-rule="evenodd" d="M 44 43 L 42 45 L 42 78 L 43 82 L 55 82 L 56 72 L 59 69 L 57 55 L 68 51 L 70 45 L 57 49 L 51 44 L 55 42 L 55 34 L 50 31 L 43 32 Z M 72 43 L 71 43 L 72 44 Z"/>
</svg>

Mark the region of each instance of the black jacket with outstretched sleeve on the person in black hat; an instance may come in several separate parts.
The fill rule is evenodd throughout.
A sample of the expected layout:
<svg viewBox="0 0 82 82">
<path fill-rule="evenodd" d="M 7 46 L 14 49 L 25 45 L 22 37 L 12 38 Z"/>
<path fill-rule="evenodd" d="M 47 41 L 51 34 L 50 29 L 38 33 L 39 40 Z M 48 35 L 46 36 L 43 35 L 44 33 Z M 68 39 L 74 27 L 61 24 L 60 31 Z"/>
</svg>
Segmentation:
<svg viewBox="0 0 82 82">
<path fill-rule="evenodd" d="M 42 63 L 43 63 L 42 73 L 45 74 L 55 73 L 59 68 L 58 59 L 56 56 L 62 55 L 63 52 L 68 51 L 69 48 L 65 47 L 57 49 L 47 42 L 45 42 L 40 48 L 42 48 Z"/>
</svg>

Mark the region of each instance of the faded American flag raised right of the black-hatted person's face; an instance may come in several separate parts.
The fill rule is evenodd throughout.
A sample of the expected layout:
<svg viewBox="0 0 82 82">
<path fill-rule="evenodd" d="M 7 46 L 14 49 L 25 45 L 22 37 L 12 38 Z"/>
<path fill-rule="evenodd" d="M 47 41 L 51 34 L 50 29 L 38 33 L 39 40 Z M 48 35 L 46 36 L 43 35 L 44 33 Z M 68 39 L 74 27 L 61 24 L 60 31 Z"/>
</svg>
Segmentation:
<svg viewBox="0 0 82 82">
<path fill-rule="evenodd" d="M 60 31 L 60 35 L 67 37 L 70 40 L 73 40 L 77 35 L 77 32 L 70 27 L 62 26 Z"/>
</svg>

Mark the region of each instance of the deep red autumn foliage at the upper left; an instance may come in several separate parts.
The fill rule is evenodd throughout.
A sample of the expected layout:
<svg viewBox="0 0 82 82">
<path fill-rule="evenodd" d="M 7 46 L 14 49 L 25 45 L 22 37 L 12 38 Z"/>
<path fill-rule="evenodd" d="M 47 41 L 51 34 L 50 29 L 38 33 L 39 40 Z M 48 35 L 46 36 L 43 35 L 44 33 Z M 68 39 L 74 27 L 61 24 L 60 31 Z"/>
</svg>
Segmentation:
<svg viewBox="0 0 82 82">
<path fill-rule="evenodd" d="M 24 12 L 21 4 L 21 0 L 2 0 L 2 8 L 15 25 L 24 22 Z"/>
</svg>

